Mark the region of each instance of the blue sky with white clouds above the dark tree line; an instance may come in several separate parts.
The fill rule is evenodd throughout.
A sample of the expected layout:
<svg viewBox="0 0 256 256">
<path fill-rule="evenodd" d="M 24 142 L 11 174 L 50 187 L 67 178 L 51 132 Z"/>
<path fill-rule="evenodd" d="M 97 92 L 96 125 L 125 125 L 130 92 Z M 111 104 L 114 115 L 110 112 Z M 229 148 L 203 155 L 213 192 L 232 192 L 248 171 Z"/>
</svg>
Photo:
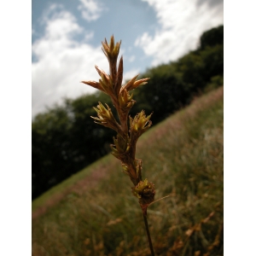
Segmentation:
<svg viewBox="0 0 256 256">
<path fill-rule="evenodd" d="M 223 0 L 32 0 L 32 117 L 96 90 L 108 73 L 102 41 L 122 42 L 124 81 L 195 49 L 224 24 Z"/>
</svg>

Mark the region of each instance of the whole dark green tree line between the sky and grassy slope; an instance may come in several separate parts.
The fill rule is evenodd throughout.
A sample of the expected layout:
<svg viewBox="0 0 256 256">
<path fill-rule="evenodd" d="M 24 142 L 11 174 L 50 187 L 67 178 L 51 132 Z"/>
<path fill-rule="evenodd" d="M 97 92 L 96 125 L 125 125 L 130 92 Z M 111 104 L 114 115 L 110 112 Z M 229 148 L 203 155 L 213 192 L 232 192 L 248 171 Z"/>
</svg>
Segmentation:
<svg viewBox="0 0 256 256">
<path fill-rule="evenodd" d="M 140 78 L 148 84 L 134 91 L 137 103 L 131 116 L 142 109 L 157 124 L 191 102 L 194 96 L 223 85 L 224 26 L 204 32 L 197 49 L 177 61 L 148 68 Z M 61 105 L 38 113 L 32 120 L 32 200 L 57 183 L 79 172 L 110 152 L 115 133 L 96 125 L 93 107 L 98 102 L 112 106 L 104 93 L 97 91 L 76 99 L 66 98 Z"/>
</svg>

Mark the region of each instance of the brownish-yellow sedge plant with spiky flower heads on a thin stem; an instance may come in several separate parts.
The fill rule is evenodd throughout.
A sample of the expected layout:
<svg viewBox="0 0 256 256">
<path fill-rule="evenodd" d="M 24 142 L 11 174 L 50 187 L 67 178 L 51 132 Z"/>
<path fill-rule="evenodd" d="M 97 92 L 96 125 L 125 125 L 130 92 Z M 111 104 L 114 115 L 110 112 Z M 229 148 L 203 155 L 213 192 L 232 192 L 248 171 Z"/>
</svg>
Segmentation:
<svg viewBox="0 0 256 256">
<path fill-rule="evenodd" d="M 150 120 L 152 113 L 147 116 L 142 110 L 140 113 L 137 113 L 134 118 L 129 115 L 132 106 L 135 104 L 130 91 L 140 85 L 147 84 L 149 78 L 137 80 L 137 75 L 125 85 L 122 85 L 122 56 L 117 66 L 120 44 L 121 41 L 116 44 L 114 43 L 113 36 L 110 38 L 109 44 L 105 38 L 105 41 L 102 42 L 102 51 L 108 58 L 109 74 L 95 66 L 101 79 L 99 79 L 98 82 L 88 80 L 82 81 L 82 83 L 88 84 L 107 94 L 111 98 L 113 107 L 116 109 L 118 119 L 114 118 L 113 112 L 108 104 L 104 106 L 102 102 L 99 102 L 97 107 L 94 108 L 97 117 L 91 118 L 95 120 L 96 124 L 106 126 L 117 132 L 116 137 L 113 137 L 113 144 L 110 146 L 112 154 L 121 161 L 123 172 L 130 177 L 133 183 L 133 187 L 131 188 L 132 194 L 138 198 L 139 205 L 142 208 L 148 244 L 151 254 L 154 255 L 147 219 L 147 208 L 154 202 L 154 183 L 148 182 L 147 178 L 143 180 L 143 161 L 136 159 L 137 140 L 145 131 L 148 131 L 148 128 L 152 125 Z"/>
</svg>

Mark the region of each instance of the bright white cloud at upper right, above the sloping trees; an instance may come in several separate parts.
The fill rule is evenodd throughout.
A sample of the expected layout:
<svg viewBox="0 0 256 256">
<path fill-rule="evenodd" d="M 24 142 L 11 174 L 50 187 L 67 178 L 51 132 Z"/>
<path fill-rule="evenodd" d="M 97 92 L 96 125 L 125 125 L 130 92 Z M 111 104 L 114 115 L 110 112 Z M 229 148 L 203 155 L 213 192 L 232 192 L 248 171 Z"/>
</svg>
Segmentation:
<svg viewBox="0 0 256 256">
<path fill-rule="evenodd" d="M 223 3 L 201 3 L 198 0 L 143 0 L 156 12 L 160 30 L 154 37 L 148 32 L 137 38 L 135 45 L 146 55 L 154 57 L 152 65 L 176 61 L 178 57 L 195 49 L 201 33 L 223 24 Z"/>
</svg>

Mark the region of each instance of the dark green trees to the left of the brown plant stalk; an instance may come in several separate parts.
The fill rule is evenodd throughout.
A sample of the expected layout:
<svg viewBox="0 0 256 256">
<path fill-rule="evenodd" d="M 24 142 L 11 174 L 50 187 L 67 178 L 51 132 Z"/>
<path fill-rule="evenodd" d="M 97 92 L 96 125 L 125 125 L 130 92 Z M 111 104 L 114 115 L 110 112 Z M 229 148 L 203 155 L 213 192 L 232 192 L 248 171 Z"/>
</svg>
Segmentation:
<svg viewBox="0 0 256 256">
<path fill-rule="evenodd" d="M 33 119 L 32 199 L 108 154 L 113 132 L 90 121 L 93 106 L 105 98 L 96 93 L 66 99 Z"/>
</svg>

